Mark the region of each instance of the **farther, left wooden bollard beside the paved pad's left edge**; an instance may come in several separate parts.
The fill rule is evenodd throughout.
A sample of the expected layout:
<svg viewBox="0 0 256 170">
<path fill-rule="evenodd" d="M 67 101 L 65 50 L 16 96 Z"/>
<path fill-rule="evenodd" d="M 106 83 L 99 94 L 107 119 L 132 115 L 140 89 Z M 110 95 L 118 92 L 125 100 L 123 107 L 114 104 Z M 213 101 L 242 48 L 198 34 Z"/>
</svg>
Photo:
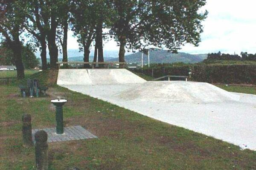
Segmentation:
<svg viewBox="0 0 256 170">
<path fill-rule="evenodd" d="M 32 146 L 32 126 L 31 126 L 31 115 L 23 114 L 22 116 L 22 136 L 23 143 L 25 146 Z"/>
</svg>

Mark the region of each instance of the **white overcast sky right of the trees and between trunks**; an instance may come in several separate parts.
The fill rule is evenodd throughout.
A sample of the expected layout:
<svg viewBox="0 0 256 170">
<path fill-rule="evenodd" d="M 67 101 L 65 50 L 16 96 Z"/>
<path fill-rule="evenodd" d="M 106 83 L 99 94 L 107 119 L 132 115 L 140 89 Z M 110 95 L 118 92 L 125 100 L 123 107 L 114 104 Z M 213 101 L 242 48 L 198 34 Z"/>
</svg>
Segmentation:
<svg viewBox="0 0 256 170">
<path fill-rule="evenodd" d="M 241 51 L 256 53 L 256 1 L 255 0 L 207 0 L 204 9 L 209 11 L 203 22 L 199 47 L 185 45 L 180 52 L 205 54 L 240 54 Z M 68 49 L 78 49 L 76 39 L 69 32 Z M 104 50 L 118 50 L 116 42 L 105 44 Z"/>
</svg>

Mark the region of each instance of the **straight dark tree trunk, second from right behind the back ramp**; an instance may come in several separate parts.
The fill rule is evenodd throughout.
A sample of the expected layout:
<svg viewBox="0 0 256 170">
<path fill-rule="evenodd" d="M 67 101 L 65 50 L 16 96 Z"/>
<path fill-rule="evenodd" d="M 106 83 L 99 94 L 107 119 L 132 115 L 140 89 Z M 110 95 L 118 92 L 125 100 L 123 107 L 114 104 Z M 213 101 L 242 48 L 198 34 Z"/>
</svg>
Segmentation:
<svg viewBox="0 0 256 170">
<path fill-rule="evenodd" d="M 102 21 L 99 21 L 97 28 L 96 28 L 96 41 L 98 46 L 98 55 L 99 55 L 99 62 L 104 62 L 103 57 L 103 44 L 102 44 Z M 99 68 L 104 68 L 104 64 L 99 64 Z"/>
</svg>

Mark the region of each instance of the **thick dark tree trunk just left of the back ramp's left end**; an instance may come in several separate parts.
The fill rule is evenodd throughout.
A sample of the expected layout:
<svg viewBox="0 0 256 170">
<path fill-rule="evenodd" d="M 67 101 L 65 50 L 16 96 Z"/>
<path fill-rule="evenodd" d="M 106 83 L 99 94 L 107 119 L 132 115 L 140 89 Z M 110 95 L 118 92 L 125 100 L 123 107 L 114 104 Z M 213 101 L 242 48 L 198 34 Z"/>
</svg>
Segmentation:
<svg viewBox="0 0 256 170">
<path fill-rule="evenodd" d="M 55 42 L 56 28 L 57 28 L 57 23 L 55 20 L 55 14 L 53 14 L 52 12 L 51 13 L 51 29 L 48 31 L 48 35 L 47 35 L 51 69 L 58 68 L 58 65 L 56 63 L 58 62 L 58 47 Z"/>
</svg>

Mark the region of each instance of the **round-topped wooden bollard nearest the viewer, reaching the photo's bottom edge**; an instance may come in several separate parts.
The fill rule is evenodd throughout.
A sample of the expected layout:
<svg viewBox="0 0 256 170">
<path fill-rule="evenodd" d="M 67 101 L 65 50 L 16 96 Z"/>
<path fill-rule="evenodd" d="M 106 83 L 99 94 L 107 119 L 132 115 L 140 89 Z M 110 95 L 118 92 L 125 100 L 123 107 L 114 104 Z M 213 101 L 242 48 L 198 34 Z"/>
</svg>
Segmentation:
<svg viewBox="0 0 256 170">
<path fill-rule="evenodd" d="M 38 170 L 48 170 L 47 133 L 44 130 L 35 133 L 35 162 Z"/>
</svg>

